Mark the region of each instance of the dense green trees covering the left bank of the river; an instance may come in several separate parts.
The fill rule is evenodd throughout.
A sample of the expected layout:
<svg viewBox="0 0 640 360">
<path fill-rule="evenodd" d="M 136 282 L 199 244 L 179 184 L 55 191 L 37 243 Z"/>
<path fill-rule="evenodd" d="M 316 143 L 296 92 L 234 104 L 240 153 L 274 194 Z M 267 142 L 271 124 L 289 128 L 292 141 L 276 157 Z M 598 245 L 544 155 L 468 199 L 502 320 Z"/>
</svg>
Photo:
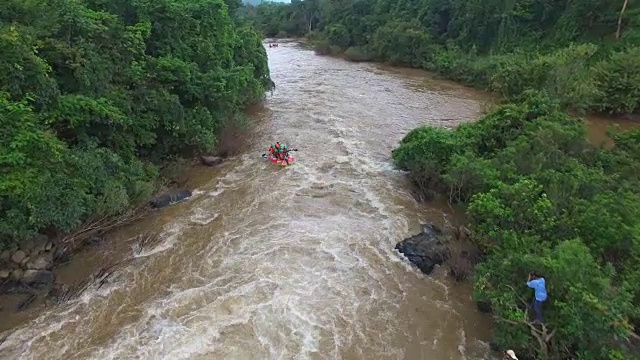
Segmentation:
<svg viewBox="0 0 640 360">
<path fill-rule="evenodd" d="M 114 215 L 270 86 L 236 0 L 0 4 L 0 248 Z"/>
</svg>

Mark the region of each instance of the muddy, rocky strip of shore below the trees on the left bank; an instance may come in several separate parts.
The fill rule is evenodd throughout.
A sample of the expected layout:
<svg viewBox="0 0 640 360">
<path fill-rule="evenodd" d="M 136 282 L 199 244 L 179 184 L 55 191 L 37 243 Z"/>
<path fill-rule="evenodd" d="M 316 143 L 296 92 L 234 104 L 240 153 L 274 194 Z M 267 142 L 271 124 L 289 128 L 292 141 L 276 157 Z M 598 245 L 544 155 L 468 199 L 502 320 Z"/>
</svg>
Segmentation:
<svg viewBox="0 0 640 360">
<path fill-rule="evenodd" d="M 263 111 L 263 104 L 246 109 Z M 40 235 L 0 253 L 0 333 L 33 319 L 44 308 L 64 305 L 86 291 L 97 291 L 110 276 L 148 253 L 161 240 L 157 231 L 137 233 L 151 219 L 173 213 L 172 208 L 193 195 L 192 190 L 217 176 L 220 167 L 246 151 L 250 136 L 244 117 L 225 122 L 216 148 L 193 159 L 177 159 L 161 171 L 159 190 L 143 206 L 100 219 L 63 236 Z M 151 227 L 149 227 L 151 228 Z"/>
</svg>

